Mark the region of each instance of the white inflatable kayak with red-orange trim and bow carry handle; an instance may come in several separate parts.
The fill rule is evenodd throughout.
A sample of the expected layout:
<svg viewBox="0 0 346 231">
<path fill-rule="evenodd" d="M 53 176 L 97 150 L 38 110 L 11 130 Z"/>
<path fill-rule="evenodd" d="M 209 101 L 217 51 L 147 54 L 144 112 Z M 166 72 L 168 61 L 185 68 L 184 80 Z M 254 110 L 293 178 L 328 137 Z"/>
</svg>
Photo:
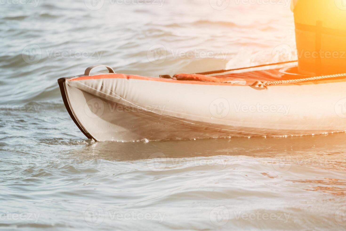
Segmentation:
<svg viewBox="0 0 346 231">
<path fill-rule="evenodd" d="M 285 67 L 154 78 L 110 67 L 90 74 L 94 67 L 58 83 L 73 121 L 95 141 L 346 131 L 346 74 L 302 76 Z"/>
</svg>

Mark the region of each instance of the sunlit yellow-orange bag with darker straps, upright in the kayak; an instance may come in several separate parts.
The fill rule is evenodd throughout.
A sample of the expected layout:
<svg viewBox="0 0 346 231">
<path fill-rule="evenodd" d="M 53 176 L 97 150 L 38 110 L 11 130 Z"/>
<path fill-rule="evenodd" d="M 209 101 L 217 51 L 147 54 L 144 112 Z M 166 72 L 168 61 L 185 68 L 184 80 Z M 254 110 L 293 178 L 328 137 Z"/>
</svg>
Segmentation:
<svg viewBox="0 0 346 231">
<path fill-rule="evenodd" d="M 344 0 L 293 0 L 298 70 L 326 75 L 346 72 Z"/>
</svg>

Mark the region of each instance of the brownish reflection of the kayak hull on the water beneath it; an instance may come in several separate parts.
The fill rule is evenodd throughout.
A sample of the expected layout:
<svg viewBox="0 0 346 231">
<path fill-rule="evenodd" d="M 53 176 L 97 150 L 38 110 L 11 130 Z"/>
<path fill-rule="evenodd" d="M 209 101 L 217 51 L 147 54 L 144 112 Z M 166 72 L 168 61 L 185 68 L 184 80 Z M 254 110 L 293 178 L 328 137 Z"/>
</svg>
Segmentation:
<svg viewBox="0 0 346 231">
<path fill-rule="evenodd" d="M 110 161 L 151 159 L 155 152 L 162 152 L 165 158 L 248 156 L 272 158 L 273 163 L 289 162 L 297 165 L 345 170 L 345 138 L 346 133 L 286 138 L 235 137 L 149 143 L 96 142 L 79 151 L 74 150 L 71 154 L 80 158 L 83 153 L 87 152 L 92 156 L 88 155 L 83 158 L 97 157 Z M 129 153 L 128 150 L 131 152 Z"/>
</svg>

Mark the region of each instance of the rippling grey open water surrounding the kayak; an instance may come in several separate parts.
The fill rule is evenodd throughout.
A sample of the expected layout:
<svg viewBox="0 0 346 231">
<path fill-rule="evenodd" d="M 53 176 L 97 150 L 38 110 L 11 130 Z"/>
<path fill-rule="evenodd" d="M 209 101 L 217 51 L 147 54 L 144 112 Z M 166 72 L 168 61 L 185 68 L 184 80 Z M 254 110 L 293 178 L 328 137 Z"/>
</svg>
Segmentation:
<svg viewBox="0 0 346 231">
<path fill-rule="evenodd" d="M 275 47 L 293 49 L 288 8 L 230 1 L 217 10 L 211 2 L 1 5 L 1 228 L 345 227 L 346 133 L 95 143 L 66 112 L 56 79 L 90 65 L 158 76 L 272 63 Z M 157 44 L 167 51 L 160 64 L 147 57 Z M 32 47 L 38 53 L 26 53 Z M 195 51 L 226 59 L 176 55 Z"/>
</svg>

